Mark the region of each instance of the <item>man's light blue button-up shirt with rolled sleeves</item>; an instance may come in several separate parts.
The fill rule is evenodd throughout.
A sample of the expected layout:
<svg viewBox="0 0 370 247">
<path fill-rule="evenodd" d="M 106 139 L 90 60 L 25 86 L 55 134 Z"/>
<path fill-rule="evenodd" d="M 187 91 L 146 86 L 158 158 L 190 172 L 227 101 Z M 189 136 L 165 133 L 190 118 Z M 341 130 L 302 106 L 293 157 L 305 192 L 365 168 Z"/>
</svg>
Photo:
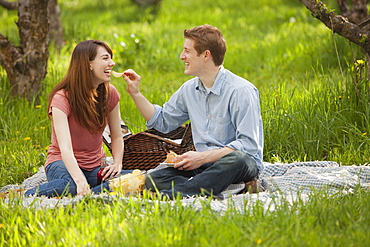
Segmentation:
<svg viewBox="0 0 370 247">
<path fill-rule="evenodd" d="M 225 146 L 251 155 L 262 172 L 263 125 L 257 88 L 221 66 L 207 92 L 198 77 L 185 82 L 155 113 L 148 128 L 167 133 L 190 120 L 194 146 L 207 151 Z"/>
</svg>

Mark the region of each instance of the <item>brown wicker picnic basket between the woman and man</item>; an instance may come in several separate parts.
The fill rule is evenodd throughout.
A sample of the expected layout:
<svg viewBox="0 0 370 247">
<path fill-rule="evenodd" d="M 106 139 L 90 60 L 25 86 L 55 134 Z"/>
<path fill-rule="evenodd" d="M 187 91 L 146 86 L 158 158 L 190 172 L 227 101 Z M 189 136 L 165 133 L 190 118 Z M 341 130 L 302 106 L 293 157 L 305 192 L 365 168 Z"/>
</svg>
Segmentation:
<svg viewBox="0 0 370 247">
<path fill-rule="evenodd" d="M 181 142 L 174 140 L 181 139 Z M 104 143 L 111 151 L 110 143 L 104 138 Z M 122 169 L 149 170 L 162 163 L 170 150 L 183 154 L 194 149 L 190 124 L 182 125 L 177 129 L 164 134 L 150 129 L 133 135 L 126 135 L 124 140 L 124 154 Z"/>
</svg>

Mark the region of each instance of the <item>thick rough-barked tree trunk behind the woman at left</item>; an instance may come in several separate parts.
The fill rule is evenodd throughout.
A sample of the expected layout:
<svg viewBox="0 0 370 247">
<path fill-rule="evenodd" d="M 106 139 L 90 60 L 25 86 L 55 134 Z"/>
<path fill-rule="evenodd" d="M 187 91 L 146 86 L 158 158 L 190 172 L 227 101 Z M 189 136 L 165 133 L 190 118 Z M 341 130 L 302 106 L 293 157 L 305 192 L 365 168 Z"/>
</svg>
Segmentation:
<svg viewBox="0 0 370 247">
<path fill-rule="evenodd" d="M 12 95 L 38 99 L 49 58 L 48 0 L 18 1 L 19 46 L 0 34 L 0 64 L 4 67 Z"/>
</svg>

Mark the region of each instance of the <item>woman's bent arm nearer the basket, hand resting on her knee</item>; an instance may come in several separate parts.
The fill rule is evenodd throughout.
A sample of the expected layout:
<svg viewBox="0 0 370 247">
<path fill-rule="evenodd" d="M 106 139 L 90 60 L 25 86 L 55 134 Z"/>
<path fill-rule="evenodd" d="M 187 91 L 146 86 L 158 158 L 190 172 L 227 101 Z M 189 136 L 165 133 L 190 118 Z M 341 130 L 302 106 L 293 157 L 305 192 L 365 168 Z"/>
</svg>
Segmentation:
<svg viewBox="0 0 370 247">
<path fill-rule="evenodd" d="M 121 173 L 123 158 L 123 138 L 119 103 L 108 114 L 108 126 L 112 142 L 113 165 L 107 166 L 102 172 L 103 180 Z"/>
</svg>

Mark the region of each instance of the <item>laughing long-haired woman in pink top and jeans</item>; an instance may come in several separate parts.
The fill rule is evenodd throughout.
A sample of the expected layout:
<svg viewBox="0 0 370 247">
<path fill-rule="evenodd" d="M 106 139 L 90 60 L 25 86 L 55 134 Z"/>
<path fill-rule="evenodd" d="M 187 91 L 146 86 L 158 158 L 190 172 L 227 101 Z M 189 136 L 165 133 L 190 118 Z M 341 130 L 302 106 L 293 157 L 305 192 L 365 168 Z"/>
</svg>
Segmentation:
<svg viewBox="0 0 370 247">
<path fill-rule="evenodd" d="M 112 50 L 99 40 L 80 42 L 72 53 L 66 76 L 49 95 L 51 145 L 45 163 L 48 182 L 29 189 L 26 196 L 86 195 L 108 189 L 97 173 L 105 157 L 102 133 L 111 131 L 114 163 L 102 171 L 103 181 L 122 171 L 123 138 L 120 95 L 111 85 L 115 63 Z"/>
</svg>

